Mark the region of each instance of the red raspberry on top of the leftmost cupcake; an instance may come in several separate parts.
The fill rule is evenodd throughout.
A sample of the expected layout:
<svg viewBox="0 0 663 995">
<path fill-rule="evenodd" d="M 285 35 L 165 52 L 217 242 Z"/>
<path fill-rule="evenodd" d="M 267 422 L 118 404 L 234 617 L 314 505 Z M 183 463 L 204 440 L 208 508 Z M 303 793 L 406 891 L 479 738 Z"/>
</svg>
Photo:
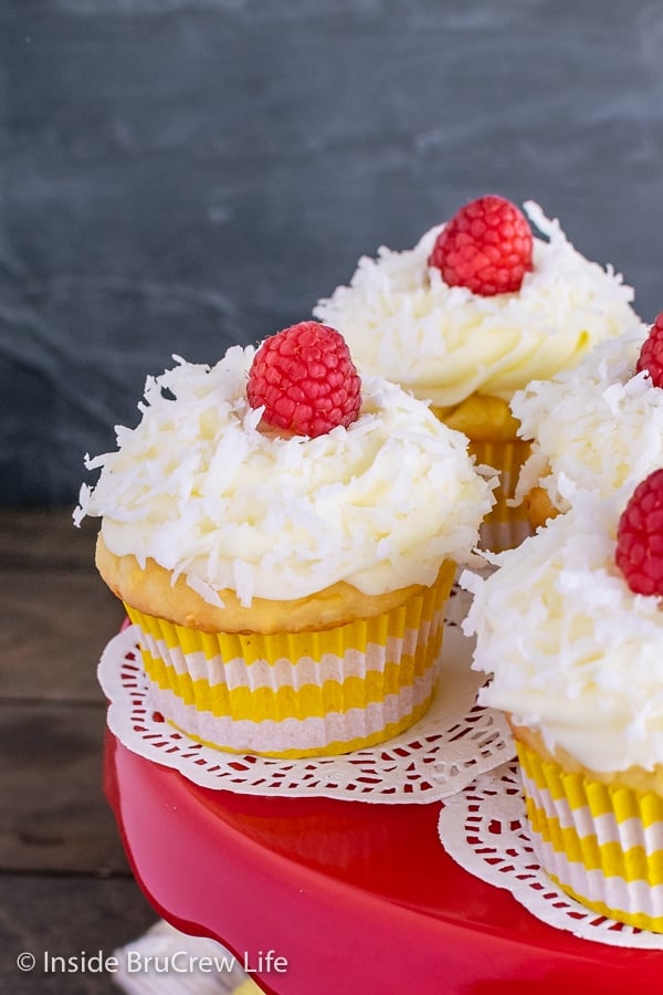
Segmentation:
<svg viewBox="0 0 663 995">
<path fill-rule="evenodd" d="M 299 322 L 266 338 L 249 371 L 252 408 L 263 421 L 296 436 L 323 436 L 356 421 L 361 380 L 346 341 L 319 322 Z"/>
</svg>

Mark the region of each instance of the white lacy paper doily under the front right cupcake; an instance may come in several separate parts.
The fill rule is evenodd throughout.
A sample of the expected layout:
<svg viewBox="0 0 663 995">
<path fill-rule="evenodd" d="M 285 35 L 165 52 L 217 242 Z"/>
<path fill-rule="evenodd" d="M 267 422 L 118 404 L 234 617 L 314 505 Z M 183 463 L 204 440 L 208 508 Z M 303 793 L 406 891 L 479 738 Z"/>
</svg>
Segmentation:
<svg viewBox="0 0 663 995">
<path fill-rule="evenodd" d="M 541 869 L 528 831 L 516 761 L 482 774 L 440 813 L 442 846 L 464 870 L 511 891 L 548 925 L 612 946 L 663 950 L 663 934 L 636 930 L 586 909 Z"/>
</svg>

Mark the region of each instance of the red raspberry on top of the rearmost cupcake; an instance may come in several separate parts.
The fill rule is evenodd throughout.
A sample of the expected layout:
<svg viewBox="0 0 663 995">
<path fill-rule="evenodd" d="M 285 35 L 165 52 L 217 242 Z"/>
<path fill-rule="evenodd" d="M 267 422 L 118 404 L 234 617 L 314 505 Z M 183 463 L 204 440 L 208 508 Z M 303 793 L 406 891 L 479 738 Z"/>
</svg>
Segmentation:
<svg viewBox="0 0 663 995">
<path fill-rule="evenodd" d="M 480 197 L 456 211 L 435 241 L 429 265 L 449 286 L 474 294 L 520 290 L 532 270 L 532 230 L 525 214 L 504 197 Z"/>
</svg>

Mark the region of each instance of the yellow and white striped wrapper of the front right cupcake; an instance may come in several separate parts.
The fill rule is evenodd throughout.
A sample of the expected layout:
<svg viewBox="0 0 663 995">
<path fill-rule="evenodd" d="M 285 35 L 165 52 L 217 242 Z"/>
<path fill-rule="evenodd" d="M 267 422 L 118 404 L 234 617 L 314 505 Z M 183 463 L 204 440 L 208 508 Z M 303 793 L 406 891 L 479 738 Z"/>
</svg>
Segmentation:
<svg viewBox="0 0 663 995">
<path fill-rule="evenodd" d="M 533 845 L 547 873 L 592 911 L 663 932 L 663 798 L 517 748 Z"/>
</svg>

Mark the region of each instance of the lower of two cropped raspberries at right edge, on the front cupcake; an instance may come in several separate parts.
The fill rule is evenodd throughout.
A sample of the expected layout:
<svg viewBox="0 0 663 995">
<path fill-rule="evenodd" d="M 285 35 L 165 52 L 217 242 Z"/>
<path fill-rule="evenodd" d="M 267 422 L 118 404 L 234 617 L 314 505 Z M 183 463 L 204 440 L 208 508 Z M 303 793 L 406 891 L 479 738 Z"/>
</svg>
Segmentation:
<svg viewBox="0 0 663 995">
<path fill-rule="evenodd" d="M 663 469 L 633 491 L 619 520 L 614 558 L 632 591 L 663 595 Z"/>
</svg>

